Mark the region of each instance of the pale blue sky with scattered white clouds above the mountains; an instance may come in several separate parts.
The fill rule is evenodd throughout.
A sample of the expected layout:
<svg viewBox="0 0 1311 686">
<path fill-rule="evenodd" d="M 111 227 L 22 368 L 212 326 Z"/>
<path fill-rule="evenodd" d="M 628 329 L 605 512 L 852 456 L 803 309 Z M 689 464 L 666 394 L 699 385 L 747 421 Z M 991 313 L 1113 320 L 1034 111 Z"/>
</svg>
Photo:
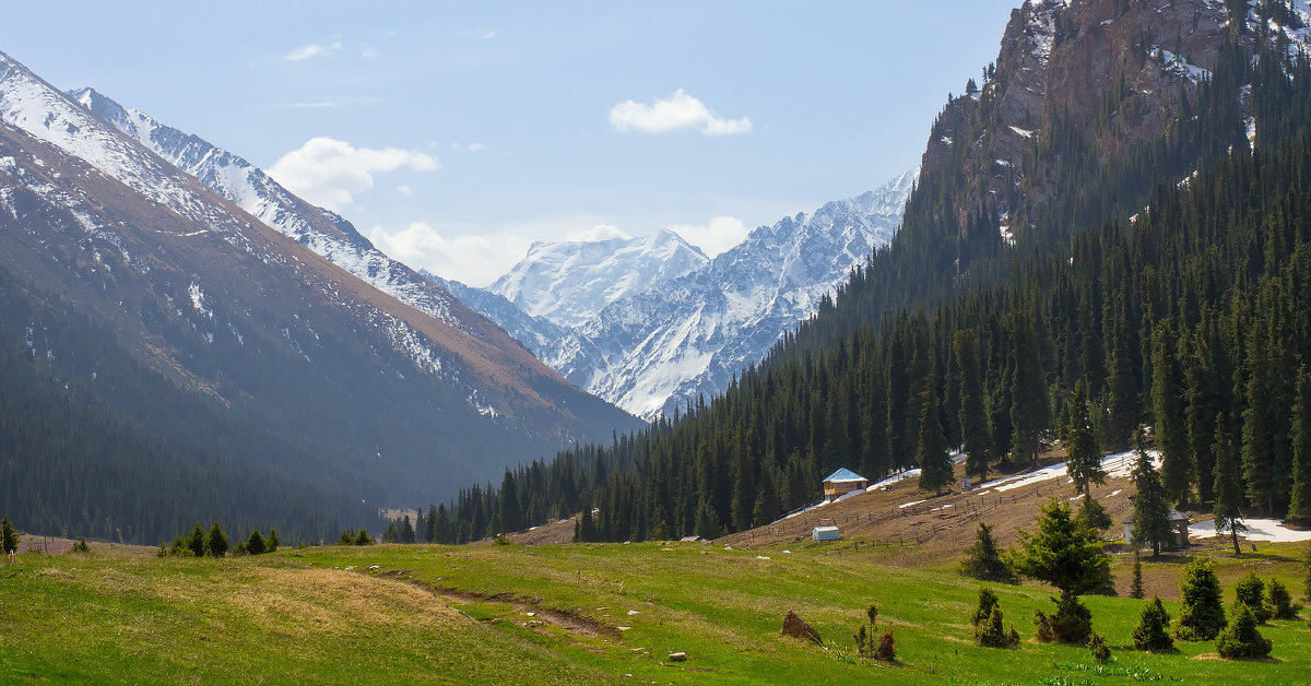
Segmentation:
<svg viewBox="0 0 1311 686">
<path fill-rule="evenodd" d="M 16 3 L 0 50 L 485 285 L 534 240 L 708 253 L 918 164 L 1016 0 Z"/>
</svg>

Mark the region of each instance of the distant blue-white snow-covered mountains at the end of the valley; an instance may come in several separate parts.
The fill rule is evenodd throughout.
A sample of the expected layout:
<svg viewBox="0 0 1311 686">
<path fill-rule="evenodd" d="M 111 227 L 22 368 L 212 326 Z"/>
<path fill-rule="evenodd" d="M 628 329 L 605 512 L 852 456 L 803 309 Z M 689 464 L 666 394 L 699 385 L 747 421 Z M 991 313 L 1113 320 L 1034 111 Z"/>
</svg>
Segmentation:
<svg viewBox="0 0 1311 686">
<path fill-rule="evenodd" d="M 644 418 L 725 391 L 886 245 L 918 171 L 707 258 L 676 233 L 534 244 L 488 289 L 435 278 L 570 382 Z"/>
</svg>

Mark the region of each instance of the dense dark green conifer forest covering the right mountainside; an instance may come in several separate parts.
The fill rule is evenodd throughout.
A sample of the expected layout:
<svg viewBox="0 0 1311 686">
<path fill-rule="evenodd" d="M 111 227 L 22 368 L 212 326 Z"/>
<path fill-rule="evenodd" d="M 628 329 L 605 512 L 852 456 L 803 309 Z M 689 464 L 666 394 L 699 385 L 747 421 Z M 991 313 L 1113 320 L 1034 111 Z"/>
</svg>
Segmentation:
<svg viewBox="0 0 1311 686">
<path fill-rule="evenodd" d="M 971 117 L 995 114 L 983 98 Z M 949 485 L 945 446 L 968 447 L 974 476 L 1030 463 L 1083 412 L 1103 447 L 1152 426 L 1175 505 L 1236 497 L 1311 522 L 1306 55 L 1230 43 L 1165 134 L 1124 155 L 1053 129 L 1032 155 L 1057 155 L 1068 192 L 1015 245 L 987 206 L 957 228 L 944 207 L 968 180 L 926 174 L 893 244 L 722 397 L 507 470 L 430 508 L 420 538 L 578 512 L 582 540 L 739 531 L 813 502 L 836 467 L 923 467 L 932 492 Z"/>
</svg>

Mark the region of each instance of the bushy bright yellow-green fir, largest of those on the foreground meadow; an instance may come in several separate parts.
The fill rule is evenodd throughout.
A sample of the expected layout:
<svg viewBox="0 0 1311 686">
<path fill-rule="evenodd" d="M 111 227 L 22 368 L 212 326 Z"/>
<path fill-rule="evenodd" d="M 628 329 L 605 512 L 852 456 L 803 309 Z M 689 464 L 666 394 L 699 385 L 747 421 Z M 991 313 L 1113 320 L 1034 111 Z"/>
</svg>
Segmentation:
<svg viewBox="0 0 1311 686">
<path fill-rule="evenodd" d="M 1087 643 L 1092 620 L 1079 595 L 1112 582 L 1110 556 L 1097 533 L 1075 518 L 1068 505 L 1053 500 L 1042 506 L 1037 533 L 1020 531 L 1017 548 L 1007 551 L 1003 559 L 1021 576 L 1061 589 L 1057 614 L 1050 618 L 1054 637 L 1062 643 Z"/>
</svg>

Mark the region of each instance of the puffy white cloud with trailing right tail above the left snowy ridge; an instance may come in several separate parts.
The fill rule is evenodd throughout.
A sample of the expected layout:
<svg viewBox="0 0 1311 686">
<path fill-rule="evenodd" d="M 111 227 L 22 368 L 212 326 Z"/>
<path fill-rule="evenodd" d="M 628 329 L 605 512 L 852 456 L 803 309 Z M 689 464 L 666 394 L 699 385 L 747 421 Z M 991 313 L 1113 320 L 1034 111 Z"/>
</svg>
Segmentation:
<svg viewBox="0 0 1311 686">
<path fill-rule="evenodd" d="M 431 172 L 442 164 L 418 151 L 357 148 L 343 140 L 316 136 L 283 155 L 269 168 L 269 176 L 315 205 L 341 210 L 355 201 L 355 193 L 374 188 L 375 173 L 400 168 Z"/>
</svg>

